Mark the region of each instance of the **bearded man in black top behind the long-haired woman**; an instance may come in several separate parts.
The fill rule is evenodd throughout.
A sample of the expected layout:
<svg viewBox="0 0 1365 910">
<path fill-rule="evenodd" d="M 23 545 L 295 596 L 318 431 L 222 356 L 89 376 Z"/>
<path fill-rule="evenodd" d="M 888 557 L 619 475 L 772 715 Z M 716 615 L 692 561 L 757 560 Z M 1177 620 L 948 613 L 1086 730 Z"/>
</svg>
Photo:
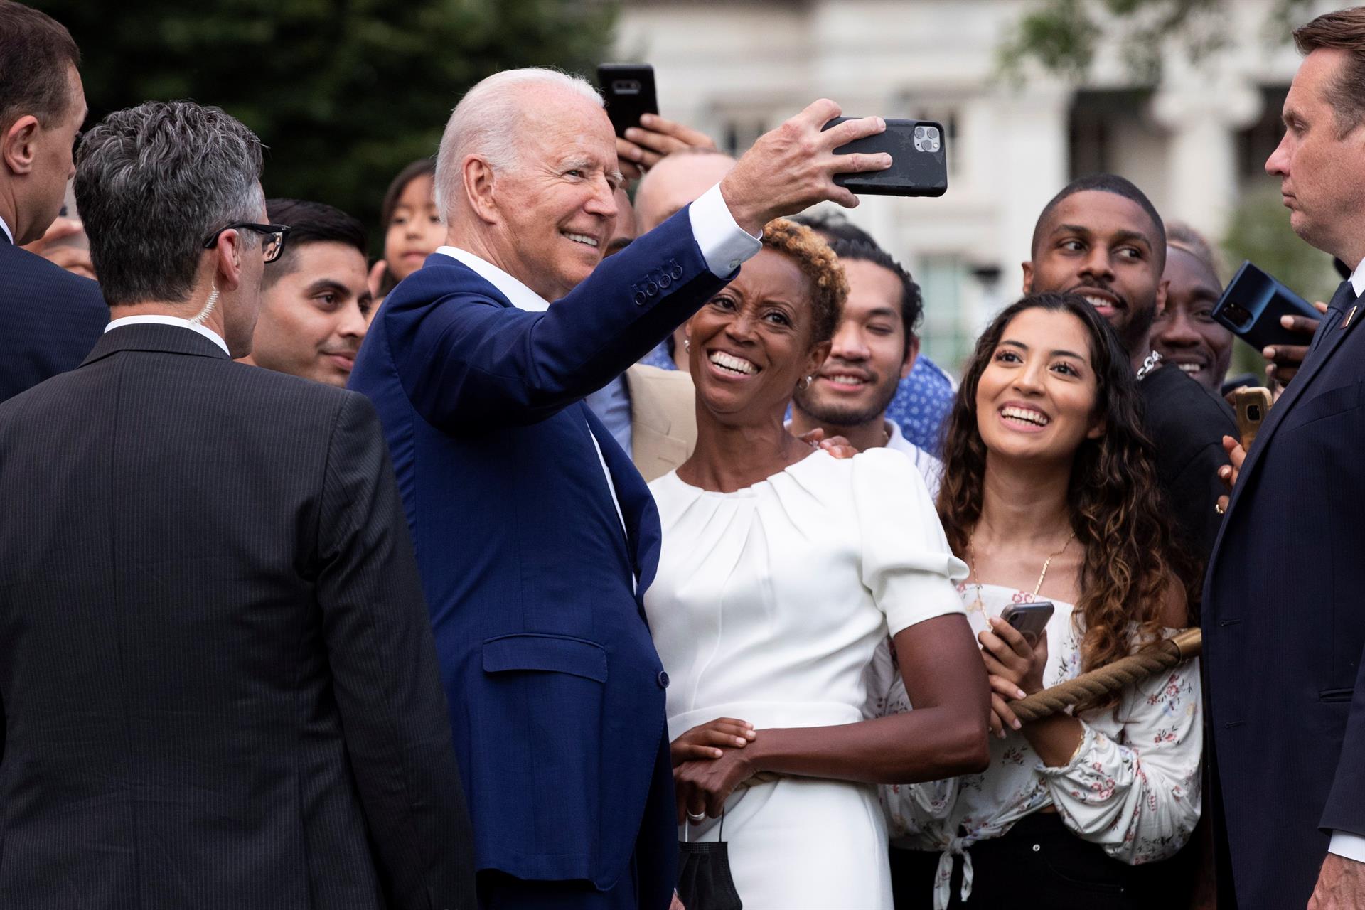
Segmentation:
<svg viewBox="0 0 1365 910">
<path fill-rule="evenodd" d="M 1226 402 L 1152 351 L 1152 321 L 1166 304 L 1164 267 L 1166 228 L 1151 201 L 1123 177 L 1100 173 L 1073 180 L 1043 209 L 1024 293 L 1077 293 L 1114 326 L 1147 404 L 1167 508 L 1203 561 L 1222 521 L 1223 437 L 1237 435 L 1237 423 Z"/>
</svg>

